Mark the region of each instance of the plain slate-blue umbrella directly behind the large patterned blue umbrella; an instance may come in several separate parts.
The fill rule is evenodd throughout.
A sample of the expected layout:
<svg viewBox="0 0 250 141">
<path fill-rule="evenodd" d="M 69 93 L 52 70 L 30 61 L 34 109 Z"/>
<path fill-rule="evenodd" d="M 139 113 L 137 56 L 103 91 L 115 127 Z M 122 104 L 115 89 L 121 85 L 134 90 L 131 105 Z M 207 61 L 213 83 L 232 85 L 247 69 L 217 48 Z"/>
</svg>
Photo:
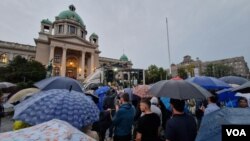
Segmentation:
<svg viewBox="0 0 250 141">
<path fill-rule="evenodd" d="M 43 79 L 36 82 L 34 86 L 41 90 L 50 89 L 72 89 L 78 92 L 83 92 L 81 84 L 75 79 L 69 77 L 55 76 Z"/>
</svg>

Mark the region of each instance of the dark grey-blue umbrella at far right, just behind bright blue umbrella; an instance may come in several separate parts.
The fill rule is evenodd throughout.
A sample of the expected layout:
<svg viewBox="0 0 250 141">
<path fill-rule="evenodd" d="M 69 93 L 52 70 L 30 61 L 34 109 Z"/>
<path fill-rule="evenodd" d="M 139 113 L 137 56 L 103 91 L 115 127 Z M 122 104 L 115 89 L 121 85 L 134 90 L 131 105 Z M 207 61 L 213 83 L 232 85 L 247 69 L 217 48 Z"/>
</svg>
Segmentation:
<svg viewBox="0 0 250 141">
<path fill-rule="evenodd" d="M 248 81 L 246 78 L 239 76 L 224 76 L 219 79 L 226 82 L 227 84 L 237 84 L 237 85 L 242 85 Z"/>
</svg>

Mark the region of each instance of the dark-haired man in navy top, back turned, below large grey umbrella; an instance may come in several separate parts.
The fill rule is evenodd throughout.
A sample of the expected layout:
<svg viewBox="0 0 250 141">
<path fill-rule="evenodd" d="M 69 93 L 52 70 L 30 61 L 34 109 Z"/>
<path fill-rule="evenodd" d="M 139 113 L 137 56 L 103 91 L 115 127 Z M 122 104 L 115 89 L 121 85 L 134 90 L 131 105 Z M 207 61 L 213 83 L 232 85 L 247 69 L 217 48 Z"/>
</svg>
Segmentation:
<svg viewBox="0 0 250 141">
<path fill-rule="evenodd" d="M 170 99 L 172 118 L 166 124 L 166 141 L 194 141 L 197 135 L 195 119 L 184 113 L 185 100 Z"/>
</svg>

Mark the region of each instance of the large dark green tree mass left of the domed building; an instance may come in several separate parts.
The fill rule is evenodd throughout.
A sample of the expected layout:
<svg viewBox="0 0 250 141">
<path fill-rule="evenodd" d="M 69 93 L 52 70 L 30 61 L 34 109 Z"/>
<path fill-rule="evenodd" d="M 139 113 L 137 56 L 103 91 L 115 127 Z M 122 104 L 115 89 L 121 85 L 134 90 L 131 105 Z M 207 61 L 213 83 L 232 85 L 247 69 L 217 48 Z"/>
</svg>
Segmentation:
<svg viewBox="0 0 250 141">
<path fill-rule="evenodd" d="M 0 80 L 12 83 L 23 82 L 20 87 L 29 87 L 34 82 L 46 76 L 45 67 L 37 61 L 28 61 L 21 56 L 16 56 L 6 67 L 0 68 Z"/>
</svg>

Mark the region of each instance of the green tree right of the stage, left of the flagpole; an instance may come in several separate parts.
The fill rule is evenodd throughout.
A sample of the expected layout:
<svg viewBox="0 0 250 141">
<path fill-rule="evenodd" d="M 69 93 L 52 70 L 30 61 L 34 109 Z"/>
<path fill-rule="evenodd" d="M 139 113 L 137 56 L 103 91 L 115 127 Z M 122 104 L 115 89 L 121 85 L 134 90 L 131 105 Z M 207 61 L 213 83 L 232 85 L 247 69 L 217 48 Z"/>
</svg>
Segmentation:
<svg viewBox="0 0 250 141">
<path fill-rule="evenodd" d="M 145 71 L 146 84 L 152 84 L 160 80 L 166 80 L 166 70 L 156 65 L 150 65 Z"/>
</svg>

